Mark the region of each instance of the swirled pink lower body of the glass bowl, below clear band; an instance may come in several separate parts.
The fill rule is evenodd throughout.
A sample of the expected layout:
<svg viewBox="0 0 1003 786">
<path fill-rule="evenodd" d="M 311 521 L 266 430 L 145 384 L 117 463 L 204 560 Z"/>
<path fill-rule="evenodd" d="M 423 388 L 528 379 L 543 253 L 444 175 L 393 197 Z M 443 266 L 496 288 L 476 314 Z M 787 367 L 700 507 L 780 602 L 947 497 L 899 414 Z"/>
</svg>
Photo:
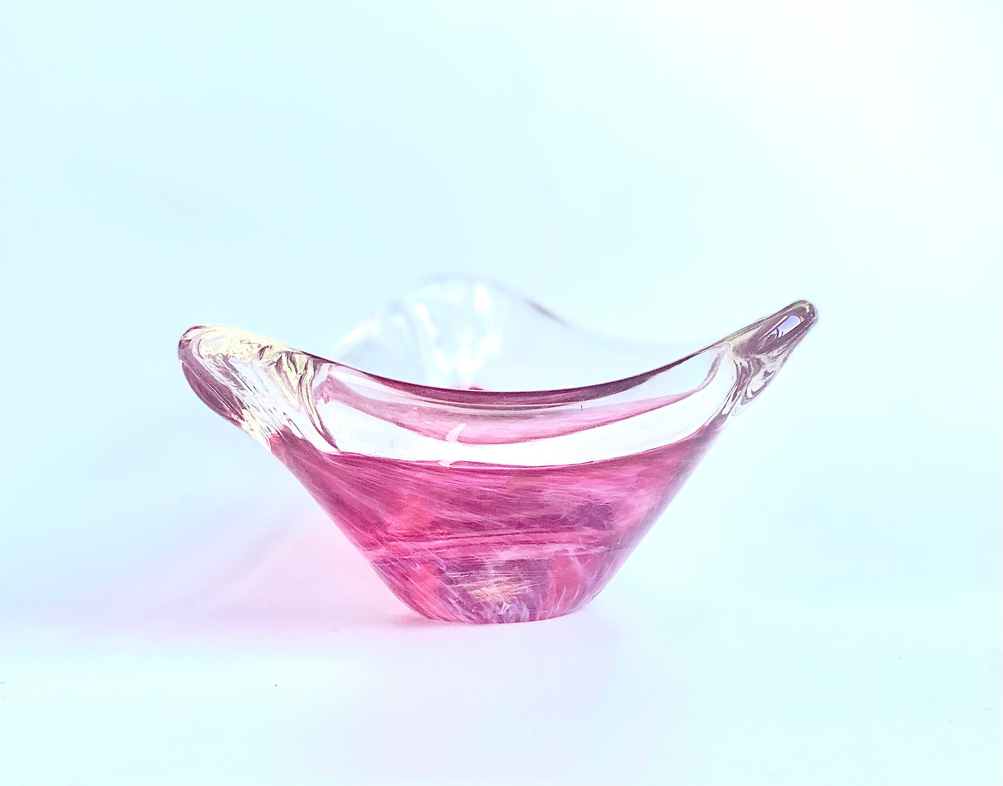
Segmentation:
<svg viewBox="0 0 1003 786">
<path fill-rule="evenodd" d="M 565 467 L 329 454 L 284 433 L 272 451 L 407 605 L 434 619 L 523 622 L 588 603 L 713 440 Z"/>
</svg>

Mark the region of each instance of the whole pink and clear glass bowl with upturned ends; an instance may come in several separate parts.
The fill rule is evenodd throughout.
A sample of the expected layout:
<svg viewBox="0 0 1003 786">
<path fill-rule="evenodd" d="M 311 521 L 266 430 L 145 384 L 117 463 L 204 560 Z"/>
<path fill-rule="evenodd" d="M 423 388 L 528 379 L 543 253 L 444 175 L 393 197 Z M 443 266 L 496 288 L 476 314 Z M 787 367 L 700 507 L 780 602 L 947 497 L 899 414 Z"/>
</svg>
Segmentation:
<svg viewBox="0 0 1003 786">
<path fill-rule="evenodd" d="M 213 325 L 179 354 L 407 605 L 517 622 L 595 597 L 814 318 L 802 300 L 673 350 L 445 280 L 360 325 L 338 361 Z"/>
</svg>

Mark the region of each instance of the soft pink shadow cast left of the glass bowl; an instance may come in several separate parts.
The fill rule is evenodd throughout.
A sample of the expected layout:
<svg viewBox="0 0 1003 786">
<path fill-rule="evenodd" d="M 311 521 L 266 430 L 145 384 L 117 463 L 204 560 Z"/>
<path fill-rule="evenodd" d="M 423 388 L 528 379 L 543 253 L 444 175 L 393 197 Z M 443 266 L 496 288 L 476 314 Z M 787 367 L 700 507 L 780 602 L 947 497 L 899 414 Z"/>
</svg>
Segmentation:
<svg viewBox="0 0 1003 786">
<path fill-rule="evenodd" d="M 85 625 L 202 637 L 444 624 L 397 600 L 307 500 L 266 515 L 242 506 L 206 531 L 105 585 Z"/>
</svg>

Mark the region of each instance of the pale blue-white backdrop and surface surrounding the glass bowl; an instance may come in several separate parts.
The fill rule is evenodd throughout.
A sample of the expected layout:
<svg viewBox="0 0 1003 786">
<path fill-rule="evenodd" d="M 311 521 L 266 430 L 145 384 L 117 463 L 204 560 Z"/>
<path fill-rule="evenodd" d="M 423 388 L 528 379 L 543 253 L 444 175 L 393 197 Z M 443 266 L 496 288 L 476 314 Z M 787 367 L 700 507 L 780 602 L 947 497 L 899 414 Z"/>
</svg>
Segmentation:
<svg viewBox="0 0 1003 786">
<path fill-rule="evenodd" d="M 999 781 L 999 4 L 498 5 L 0 2 L 0 782 Z M 589 608 L 435 624 L 175 352 L 449 271 L 820 319 Z"/>
</svg>

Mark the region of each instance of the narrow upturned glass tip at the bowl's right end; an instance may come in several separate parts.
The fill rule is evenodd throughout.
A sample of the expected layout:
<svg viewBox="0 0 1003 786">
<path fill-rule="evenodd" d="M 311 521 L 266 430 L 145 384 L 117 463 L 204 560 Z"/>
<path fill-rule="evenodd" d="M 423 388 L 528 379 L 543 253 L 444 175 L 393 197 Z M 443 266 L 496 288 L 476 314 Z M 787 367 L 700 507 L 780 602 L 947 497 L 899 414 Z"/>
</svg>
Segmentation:
<svg viewBox="0 0 1003 786">
<path fill-rule="evenodd" d="M 730 347 L 737 372 L 725 414 L 737 415 L 762 392 L 815 318 L 814 306 L 798 300 L 717 342 Z"/>
</svg>

